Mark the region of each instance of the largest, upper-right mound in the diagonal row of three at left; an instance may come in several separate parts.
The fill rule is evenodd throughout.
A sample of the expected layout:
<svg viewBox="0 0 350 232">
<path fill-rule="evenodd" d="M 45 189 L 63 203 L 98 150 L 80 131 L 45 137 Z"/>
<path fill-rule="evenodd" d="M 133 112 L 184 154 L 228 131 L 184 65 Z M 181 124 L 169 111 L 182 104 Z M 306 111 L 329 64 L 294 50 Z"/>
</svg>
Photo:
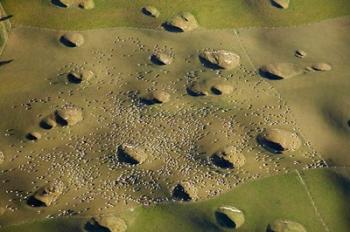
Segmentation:
<svg viewBox="0 0 350 232">
<path fill-rule="evenodd" d="M 55 115 L 56 122 L 62 126 L 74 126 L 83 120 L 83 111 L 73 106 L 56 110 Z"/>
</svg>

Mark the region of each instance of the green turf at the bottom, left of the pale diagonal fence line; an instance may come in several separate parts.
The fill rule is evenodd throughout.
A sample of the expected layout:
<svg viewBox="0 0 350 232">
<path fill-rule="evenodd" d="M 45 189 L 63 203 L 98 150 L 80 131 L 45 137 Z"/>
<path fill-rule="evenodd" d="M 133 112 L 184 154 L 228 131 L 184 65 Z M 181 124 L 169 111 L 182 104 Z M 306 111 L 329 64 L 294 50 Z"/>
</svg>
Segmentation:
<svg viewBox="0 0 350 232">
<path fill-rule="evenodd" d="M 243 185 L 207 202 L 142 208 L 129 231 L 220 231 L 214 211 L 221 205 L 243 210 L 246 223 L 238 231 L 265 231 L 278 218 L 300 222 L 308 231 L 324 231 L 296 173 Z"/>
</svg>

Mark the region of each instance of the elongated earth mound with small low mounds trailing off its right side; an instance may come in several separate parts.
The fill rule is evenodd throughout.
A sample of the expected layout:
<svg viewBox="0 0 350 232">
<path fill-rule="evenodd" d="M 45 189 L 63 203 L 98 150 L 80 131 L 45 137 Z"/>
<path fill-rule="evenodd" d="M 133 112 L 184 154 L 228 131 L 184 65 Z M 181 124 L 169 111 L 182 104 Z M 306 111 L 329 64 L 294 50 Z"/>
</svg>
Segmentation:
<svg viewBox="0 0 350 232">
<path fill-rule="evenodd" d="M 303 70 L 292 63 L 274 63 L 264 65 L 260 68 L 263 77 L 272 80 L 288 79 L 300 75 Z"/>
</svg>

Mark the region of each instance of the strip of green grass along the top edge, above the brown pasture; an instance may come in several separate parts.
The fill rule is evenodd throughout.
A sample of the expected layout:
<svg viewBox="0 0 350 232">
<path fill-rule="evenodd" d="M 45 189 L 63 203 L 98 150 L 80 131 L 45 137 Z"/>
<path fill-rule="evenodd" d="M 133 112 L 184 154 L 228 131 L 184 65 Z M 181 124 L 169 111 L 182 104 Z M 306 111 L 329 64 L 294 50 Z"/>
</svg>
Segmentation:
<svg viewBox="0 0 350 232">
<path fill-rule="evenodd" d="M 95 0 L 91 11 L 58 8 L 50 0 L 1 2 L 16 24 L 62 29 L 155 28 L 179 11 L 193 12 L 206 28 L 295 25 L 350 13 L 348 0 L 294 0 L 287 10 L 272 7 L 267 0 Z M 140 9 L 147 4 L 161 11 L 159 19 L 142 15 Z"/>
</svg>

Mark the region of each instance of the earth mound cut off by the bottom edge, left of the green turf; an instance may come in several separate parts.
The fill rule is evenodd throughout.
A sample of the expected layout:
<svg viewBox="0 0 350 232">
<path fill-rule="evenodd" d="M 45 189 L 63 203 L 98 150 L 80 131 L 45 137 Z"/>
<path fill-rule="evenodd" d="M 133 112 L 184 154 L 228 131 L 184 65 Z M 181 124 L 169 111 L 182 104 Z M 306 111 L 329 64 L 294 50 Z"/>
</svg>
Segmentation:
<svg viewBox="0 0 350 232">
<path fill-rule="evenodd" d="M 125 221 L 116 216 L 98 216 L 91 218 L 85 225 L 84 231 L 108 231 L 108 232 L 124 232 L 127 230 Z"/>
</svg>

